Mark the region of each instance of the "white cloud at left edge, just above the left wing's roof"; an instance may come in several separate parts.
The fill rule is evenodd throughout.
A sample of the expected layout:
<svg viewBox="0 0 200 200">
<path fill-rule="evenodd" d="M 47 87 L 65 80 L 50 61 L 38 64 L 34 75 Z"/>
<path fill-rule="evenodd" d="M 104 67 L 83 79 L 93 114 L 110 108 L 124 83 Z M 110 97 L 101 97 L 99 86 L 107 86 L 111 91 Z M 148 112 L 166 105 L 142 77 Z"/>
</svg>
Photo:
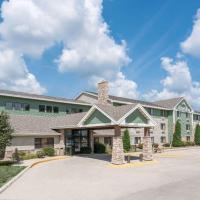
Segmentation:
<svg viewBox="0 0 200 200">
<path fill-rule="evenodd" d="M 46 91 L 13 50 L 0 51 L 0 88 L 42 94 Z"/>
</svg>

